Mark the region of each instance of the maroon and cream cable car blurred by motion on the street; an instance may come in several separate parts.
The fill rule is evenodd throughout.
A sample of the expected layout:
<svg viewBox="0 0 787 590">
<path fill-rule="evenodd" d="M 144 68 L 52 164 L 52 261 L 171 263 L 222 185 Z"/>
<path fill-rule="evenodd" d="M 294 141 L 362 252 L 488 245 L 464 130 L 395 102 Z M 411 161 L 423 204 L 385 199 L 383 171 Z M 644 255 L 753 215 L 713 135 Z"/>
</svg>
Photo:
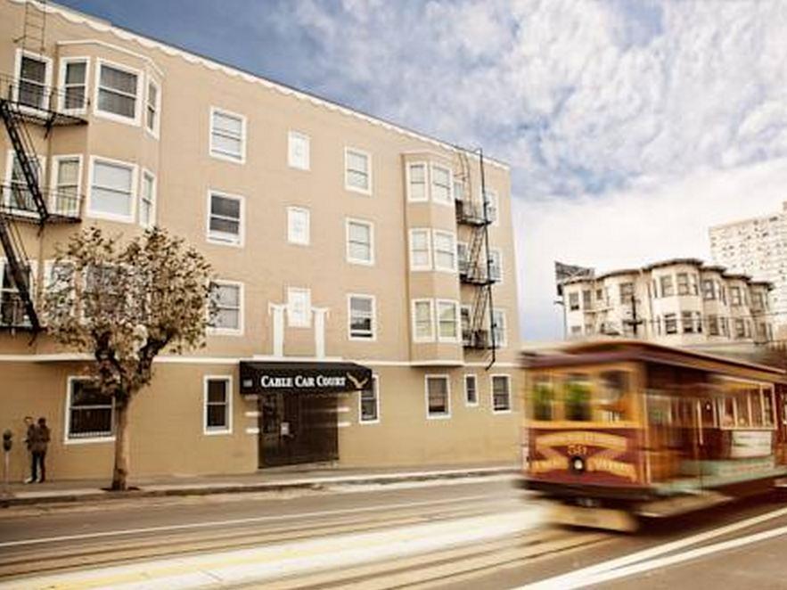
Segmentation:
<svg viewBox="0 0 787 590">
<path fill-rule="evenodd" d="M 524 365 L 522 484 L 552 501 L 555 522 L 632 531 L 787 475 L 783 369 L 641 340 Z"/>
</svg>

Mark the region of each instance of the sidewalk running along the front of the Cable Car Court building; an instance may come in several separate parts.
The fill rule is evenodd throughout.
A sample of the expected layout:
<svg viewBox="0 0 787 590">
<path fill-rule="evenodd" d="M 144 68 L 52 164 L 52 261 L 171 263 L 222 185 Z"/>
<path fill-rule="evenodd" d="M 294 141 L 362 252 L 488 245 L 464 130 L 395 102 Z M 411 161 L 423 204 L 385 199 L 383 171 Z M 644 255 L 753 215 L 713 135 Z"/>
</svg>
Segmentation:
<svg viewBox="0 0 787 590">
<path fill-rule="evenodd" d="M 389 469 L 339 469 L 314 466 L 268 469 L 243 475 L 169 476 L 131 479 L 126 492 L 108 492 L 106 479 L 66 480 L 43 484 L 11 484 L 12 496 L 0 496 L 0 507 L 161 496 L 202 496 L 241 492 L 275 492 L 287 489 L 319 490 L 337 485 L 385 485 L 436 479 L 482 478 L 515 474 L 513 463 L 470 463 Z"/>
</svg>

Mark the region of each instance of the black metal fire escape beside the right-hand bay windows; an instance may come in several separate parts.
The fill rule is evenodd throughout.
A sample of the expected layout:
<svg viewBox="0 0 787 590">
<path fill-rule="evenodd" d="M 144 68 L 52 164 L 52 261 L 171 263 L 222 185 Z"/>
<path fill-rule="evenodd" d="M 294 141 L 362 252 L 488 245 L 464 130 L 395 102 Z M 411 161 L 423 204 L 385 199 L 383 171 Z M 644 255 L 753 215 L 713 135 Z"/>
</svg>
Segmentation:
<svg viewBox="0 0 787 590">
<path fill-rule="evenodd" d="M 471 163 L 467 152 L 459 150 L 459 171 L 456 176 L 456 222 L 470 229 L 470 239 L 459 256 L 459 278 L 472 287 L 472 304 L 463 307 L 462 340 L 464 348 L 491 350 L 491 364 L 496 357 L 495 314 L 492 287 L 499 280 L 499 268 L 490 256 L 488 199 L 484 171 L 484 155 L 479 150 L 480 200 L 473 198 Z"/>
</svg>

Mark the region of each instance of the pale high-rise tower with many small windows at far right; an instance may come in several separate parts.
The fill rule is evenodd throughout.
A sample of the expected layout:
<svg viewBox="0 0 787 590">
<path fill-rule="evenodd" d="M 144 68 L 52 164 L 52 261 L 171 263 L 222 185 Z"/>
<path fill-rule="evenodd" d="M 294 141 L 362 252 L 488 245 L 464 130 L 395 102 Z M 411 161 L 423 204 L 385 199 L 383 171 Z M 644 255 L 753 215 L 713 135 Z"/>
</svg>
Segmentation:
<svg viewBox="0 0 787 590">
<path fill-rule="evenodd" d="M 715 264 L 773 284 L 773 324 L 787 330 L 787 202 L 781 212 L 715 225 L 709 234 Z"/>
</svg>

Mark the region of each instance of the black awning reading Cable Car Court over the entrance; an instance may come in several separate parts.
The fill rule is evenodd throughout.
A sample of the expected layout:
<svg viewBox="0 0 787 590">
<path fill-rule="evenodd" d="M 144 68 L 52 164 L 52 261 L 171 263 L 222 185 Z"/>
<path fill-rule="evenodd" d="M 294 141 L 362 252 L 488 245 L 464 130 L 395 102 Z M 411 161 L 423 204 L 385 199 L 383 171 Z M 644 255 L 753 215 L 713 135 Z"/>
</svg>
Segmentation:
<svg viewBox="0 0 787 590">
<path fill-rule="evenodd" d="M 356 363 L 241 361 L 241 393 L 340 393 L 372 383 L 372 370 Z"/>
</svg>

